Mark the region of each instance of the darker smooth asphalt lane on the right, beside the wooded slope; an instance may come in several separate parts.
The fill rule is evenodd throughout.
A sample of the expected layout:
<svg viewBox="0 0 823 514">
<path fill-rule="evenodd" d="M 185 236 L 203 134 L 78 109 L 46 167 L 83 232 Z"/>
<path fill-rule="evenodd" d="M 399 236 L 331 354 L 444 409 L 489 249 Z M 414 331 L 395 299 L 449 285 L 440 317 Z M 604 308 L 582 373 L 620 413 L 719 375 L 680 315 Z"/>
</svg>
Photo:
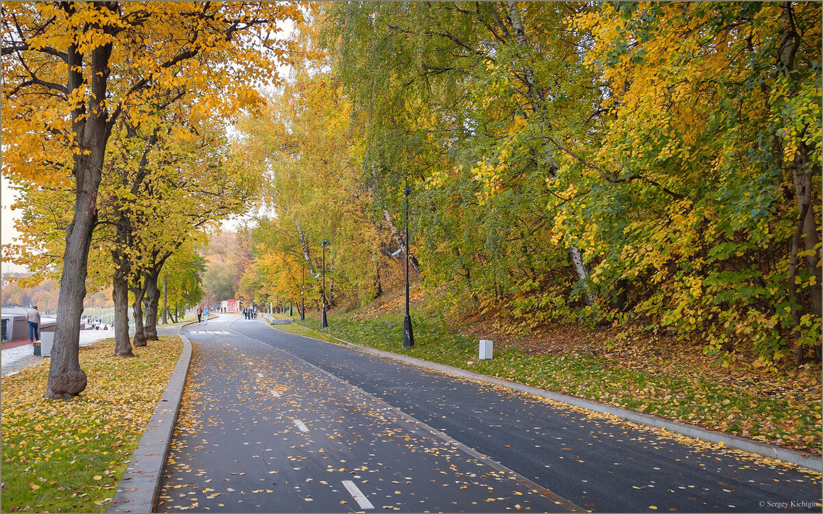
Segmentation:
<svg viewBox="0 0 823 514">
<path fill-rule="evenodd" d="M 819 474 L 690 445 L 507 388 L 241 320 L 230 331 L 341 377 L 570 502 L 601 512 L 819 512 Z M 352 341 L 356 342 L 356 341 Z"/>
</svg>

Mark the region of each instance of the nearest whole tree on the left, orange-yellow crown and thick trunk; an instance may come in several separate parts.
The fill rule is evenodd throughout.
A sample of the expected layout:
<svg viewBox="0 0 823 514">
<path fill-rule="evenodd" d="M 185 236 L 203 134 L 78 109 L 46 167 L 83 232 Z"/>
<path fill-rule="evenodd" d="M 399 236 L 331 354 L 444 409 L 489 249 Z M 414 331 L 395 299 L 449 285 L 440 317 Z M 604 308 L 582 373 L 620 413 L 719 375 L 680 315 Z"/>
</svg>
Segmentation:
<svg viewBox="0 0 823 514">
<path fill-rule="evenodd" d="M 48 398 L 86 387 L 77 360 L 86 265 L 109 137 L 123 113 L 175 86 L 193 117 L 230 116 L 277 79 L 277 22 L 298 5 L 239 2 L 14 2 L 2 7 L 3 173 L 31 187 L 71 184 Z M 219 70 L 219 72 L 217 72 Z"/>
</svg>

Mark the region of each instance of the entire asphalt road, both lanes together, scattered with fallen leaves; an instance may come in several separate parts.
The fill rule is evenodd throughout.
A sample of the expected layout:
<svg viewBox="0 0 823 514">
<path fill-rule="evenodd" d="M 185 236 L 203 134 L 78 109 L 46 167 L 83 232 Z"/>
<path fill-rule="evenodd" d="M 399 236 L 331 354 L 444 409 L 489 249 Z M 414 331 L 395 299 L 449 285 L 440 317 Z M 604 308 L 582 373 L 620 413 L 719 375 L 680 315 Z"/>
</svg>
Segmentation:
<svg viewBox="0 0 823 514">
<path fill-rule="evenodd" d="M 161 498 L 158 510 L 185 507 L 190 498 L 198 498 L 198 507 L 226 512 L 360 510 L 341 487 L 349 475 L 374 510 L 821 511 L 820 481 L 811 473 L 742 460 L 517 391 L 293 336 L 260 319 L 210 322 L 208 329 L 227 334 L 189 328 L 196 345 L 190 377 L 202 398 L 200 415 L 212 422 L 174 442 L 176 463 L 165 474 L 168 498 Z M 289 392 L 266 396 L 277 387 Z M 539 487 L 484 464 L 477 454 L 409 423 L 398 410 Z M 296 427 L 297 418 L 308 432 Z M 211 447 L 217 439 L 221 446 Z M 258 450 L 257 456 L 249 450 Z M 334 467 L 337 461 L 342 462 Z M 246 475 L 226 475 L 223 489 L 217 489 L 212 474 L 221 465 Z M 206 483 L 207 477 L 212 481 Z M 239 477 L 246 489 L 228 485 Z M 269 477 L 274 484 L 267 484 Z M 249 493 L 247 485 L 255 480 L 272 493 Z M 198 492 L 206 488 L 221 494 L 205 503 L 214 493 Z M 240 490 L 244 494 L 238 496 Z M 235 497 L 241 503 L 226 501 Z M 273 499 L 250 502 L 258 497 Z"/>
</svg>

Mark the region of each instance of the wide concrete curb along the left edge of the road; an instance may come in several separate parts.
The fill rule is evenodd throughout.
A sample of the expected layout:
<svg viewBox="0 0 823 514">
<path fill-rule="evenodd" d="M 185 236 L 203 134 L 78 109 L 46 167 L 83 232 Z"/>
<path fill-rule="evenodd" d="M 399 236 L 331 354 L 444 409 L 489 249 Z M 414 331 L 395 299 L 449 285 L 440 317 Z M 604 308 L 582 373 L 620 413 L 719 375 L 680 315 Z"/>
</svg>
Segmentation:
<svg viewBox="0 0 823 514">
<path fill-rule="evenodd" d="M 163 466 L 169 455 L 174 424 L 183 398 L 188 366 L 192 362 L 192 343 L 183 335 L 183 327 L 191 324 L 180 326 L 179 338 L 183 340 L 183 352 L 174 366 L 160 403 L 143 430 L 108 512 L 154 512 L 163 478 Z"/>
</svg>

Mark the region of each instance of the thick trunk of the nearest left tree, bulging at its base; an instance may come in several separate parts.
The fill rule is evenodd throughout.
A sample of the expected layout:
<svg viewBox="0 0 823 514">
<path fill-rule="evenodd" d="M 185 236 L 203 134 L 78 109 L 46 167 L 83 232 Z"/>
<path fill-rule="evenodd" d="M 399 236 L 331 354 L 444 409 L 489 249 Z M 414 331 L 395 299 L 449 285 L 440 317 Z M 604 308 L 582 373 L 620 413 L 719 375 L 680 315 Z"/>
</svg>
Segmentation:
<svg viewBox="0 0 823 514">
<path fill-rule="evenodd" d="M 108 8 L 108 7 L 105 7 Z M 68 400 L 86 389 L 86 373 L 80 368 L 80 319 L 86 298 L 91 233 L 97 222 L 97 192 L 109 138 L 106 126 L 109 116 L 105 104 L 106 82 L 109 78 L 111 44 L 91 52 L 91 96 L 85 105 L 72 109 L 72 130 L 76 134 L 72 172 L 76 180 L 74 214 L 66 229 L 66 249 L 63 252 L 63 272 L 60 276 L 57 326 L 54 331 L 49 382 L 44 397 Z M 67 49 L 67 90 L 73 95 L 84 87 L 83 55 L 76 44 Z"/>
</svg>

